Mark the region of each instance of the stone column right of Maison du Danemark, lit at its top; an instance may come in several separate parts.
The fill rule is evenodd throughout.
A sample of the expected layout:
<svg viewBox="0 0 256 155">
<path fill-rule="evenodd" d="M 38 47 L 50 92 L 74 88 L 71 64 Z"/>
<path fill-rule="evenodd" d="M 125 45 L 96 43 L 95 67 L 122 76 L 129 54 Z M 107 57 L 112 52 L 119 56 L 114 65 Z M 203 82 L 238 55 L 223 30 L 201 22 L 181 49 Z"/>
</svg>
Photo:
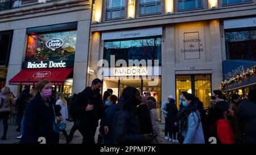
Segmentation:
<svg viewBox="0 0 256 155">
<path fill-rule="evenodd" d="M 221 33 L 218 19 L 210 21 L 210 44 L 212 51 L 212 90 L 219 89 L 222 81 Z"/>
</svg>

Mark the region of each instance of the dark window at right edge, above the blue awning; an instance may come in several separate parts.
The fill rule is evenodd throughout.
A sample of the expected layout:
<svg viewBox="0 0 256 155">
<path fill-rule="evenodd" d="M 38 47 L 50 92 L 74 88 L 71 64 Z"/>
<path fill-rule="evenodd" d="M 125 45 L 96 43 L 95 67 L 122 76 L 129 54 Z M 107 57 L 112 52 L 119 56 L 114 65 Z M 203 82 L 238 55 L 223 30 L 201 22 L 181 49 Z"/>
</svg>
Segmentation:
<svg viewBox="0 0 256 155">
<path fill-rule="evenodd" d="M 256 59 L 256 27 L 225 30 L 228 60 Z"/>
</svg>

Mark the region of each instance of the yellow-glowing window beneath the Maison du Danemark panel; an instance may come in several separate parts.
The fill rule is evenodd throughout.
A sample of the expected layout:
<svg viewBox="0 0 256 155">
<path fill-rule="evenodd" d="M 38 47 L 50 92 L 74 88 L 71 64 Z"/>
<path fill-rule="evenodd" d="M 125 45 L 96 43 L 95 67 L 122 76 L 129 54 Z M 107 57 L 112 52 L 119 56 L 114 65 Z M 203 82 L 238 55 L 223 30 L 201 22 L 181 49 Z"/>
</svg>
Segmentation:
<svg viewBox="0 0 256 155">
<path fill-rule="evenodd" d="M 210 75 L 176 76 L 176 103 L 180 106 L 182 91 L 196 95 L 204 103 L 204 108 L 210 106 L 211 81 Z"/>
</svg>

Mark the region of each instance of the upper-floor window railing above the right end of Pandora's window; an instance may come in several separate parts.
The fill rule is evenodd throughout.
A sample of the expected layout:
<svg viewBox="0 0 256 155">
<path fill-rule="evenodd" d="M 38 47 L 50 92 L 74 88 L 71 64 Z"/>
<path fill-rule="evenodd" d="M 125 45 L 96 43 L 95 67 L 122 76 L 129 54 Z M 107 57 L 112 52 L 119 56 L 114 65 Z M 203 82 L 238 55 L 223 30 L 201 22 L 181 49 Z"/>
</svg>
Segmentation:
<svg viewBox="0 0 256 155">
<path fill-rule="evenodd" d="M 156 2 L 148 2 L 148 3 L 141 3 L 140 4 L 140 11 L 141 15 L 145 14 L 157 14 L 161 12 L 161 1 Z"/>
</svg>

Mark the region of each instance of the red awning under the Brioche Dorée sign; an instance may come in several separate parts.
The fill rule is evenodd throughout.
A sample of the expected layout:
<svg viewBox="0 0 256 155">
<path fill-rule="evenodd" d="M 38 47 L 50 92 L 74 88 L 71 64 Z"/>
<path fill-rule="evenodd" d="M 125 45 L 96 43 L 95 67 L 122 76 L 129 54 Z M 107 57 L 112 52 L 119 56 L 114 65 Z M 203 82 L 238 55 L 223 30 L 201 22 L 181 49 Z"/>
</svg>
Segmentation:
<svg viewBox="0 0 256 155">
<path fill-rule="evenodd" d="M 9 85 L 36 85 L 41 79 L 48 79 L 53 85 L 64 85 L 73 68 L 23 69 L 10 79 Z"/>
</svg>

